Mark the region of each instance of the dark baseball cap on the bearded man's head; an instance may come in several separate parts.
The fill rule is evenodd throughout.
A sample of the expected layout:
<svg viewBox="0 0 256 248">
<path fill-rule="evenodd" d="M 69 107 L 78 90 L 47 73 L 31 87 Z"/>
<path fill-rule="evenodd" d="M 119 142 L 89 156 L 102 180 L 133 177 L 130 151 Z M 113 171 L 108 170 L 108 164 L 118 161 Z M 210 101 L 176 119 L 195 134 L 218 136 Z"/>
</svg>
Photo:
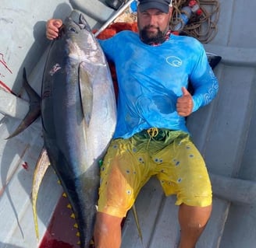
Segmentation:
<svg viewBox="0 0 256 248">
<path fill-rule="evenodd" d="M 171 6 L 172 0 L 138 0 L 140 12 L 144 12 L 147 9 L 159 9 L 162 12 L 168 13 Z"/>
</svg>

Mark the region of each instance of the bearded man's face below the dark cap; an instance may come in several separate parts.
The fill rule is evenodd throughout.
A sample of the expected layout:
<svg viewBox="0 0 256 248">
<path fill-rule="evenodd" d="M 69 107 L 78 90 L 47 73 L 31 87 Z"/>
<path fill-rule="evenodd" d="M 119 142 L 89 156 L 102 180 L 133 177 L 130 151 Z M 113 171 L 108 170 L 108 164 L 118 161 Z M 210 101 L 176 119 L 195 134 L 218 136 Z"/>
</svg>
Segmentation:
<svg viewBox="0 0 256 248">
<path fill-rule="evenodd" d="M 137 22 L 140 39 L 146 44 L 162 43 L 165 40 L 165 33 L 169 30 L 171 15 L 171 8 L 168 13 L 158 9 L 148 9 L 140 12 L 138 9 Z"/>
</svg>

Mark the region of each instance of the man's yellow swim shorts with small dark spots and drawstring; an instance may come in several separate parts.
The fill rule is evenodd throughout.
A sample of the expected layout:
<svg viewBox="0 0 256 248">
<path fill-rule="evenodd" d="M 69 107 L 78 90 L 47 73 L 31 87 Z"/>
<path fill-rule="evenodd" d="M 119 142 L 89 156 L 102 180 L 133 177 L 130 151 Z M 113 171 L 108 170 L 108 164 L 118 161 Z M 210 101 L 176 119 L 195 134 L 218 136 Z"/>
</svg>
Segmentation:
<svg viewBox="0 0 256 248">
<path fill-rule="evenodd" d="M 183 131 L 151 128 L 112 140 L 101 166 L 98 211 L 123 218 L 141 187 L 157 176 L 176 204 L 212 204 L 212 186 L 200 152 Z"/>
</svg>

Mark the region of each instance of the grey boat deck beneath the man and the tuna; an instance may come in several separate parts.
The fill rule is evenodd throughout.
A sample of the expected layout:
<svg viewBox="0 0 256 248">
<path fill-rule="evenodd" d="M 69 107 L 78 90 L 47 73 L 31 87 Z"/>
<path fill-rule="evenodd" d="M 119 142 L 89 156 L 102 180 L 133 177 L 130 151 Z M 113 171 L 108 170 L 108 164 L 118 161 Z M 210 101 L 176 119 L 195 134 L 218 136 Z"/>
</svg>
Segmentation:
<svg viewBox="0 0 256 248">
<path fill-rule="evenodd" d="M 43 146 L 41 120 L 15 138 L 5 138 L 20 123 L 29 106 L 20 80 L 24 66 L 30 84 L 40 93 L 49 44 L 44 37 L 45 20 L 52 16 L 62 18 L 76 8 L 86 12 L 93 28 L 99 28 L 113 12 L 104 1 L 36 2 L 37 8 L 32 8 L 35 2 L 30 0 L 26 3 L 4 0 L 0 9 L 0 88 L 22 96 L 18 99 L 0 89 L 0 112 L 4 113 L 0 114 L 0 248 L 38 246 L 30 194 L 34 166 Z M 194 142 L 211 173 L 214 192 L 212 217 L 197 248 L 254 248 L 256 2 L 219 0 L 219 3 L 218 33 L 209 44 L 204 44 L 206 51 L 222 56 L 215 68 L 219 94 L 210 105 L 188 118 Z M 57 181 L 55 173 L 49 169 L 37 201 L 41 239 L 62 195 Z M 180 228 L 175 201 L 175 197 L 163 195 L 155 178 L 141 190 L 136 207 L 144 247 L 177 246 Z M 72 232 L 75 240 L 75 231 Z M 54 238 L 54 233 L 51 235 Z M 132 212 L 123 226 L 122 243 L 122 248 L 130 247 L 143 247 Z"/>
</svg>

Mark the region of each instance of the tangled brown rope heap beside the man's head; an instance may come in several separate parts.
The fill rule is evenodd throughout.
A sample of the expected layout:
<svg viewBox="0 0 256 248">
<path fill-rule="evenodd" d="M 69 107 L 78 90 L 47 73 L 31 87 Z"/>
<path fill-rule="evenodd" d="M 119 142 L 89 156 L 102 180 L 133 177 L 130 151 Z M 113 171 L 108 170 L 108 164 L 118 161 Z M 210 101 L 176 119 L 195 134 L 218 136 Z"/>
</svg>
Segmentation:
<svg viewBox="0 0 256 248">
<path fill-rule="evenodd" d="M 184 6 L 188 5 L 187 0 L 173 0 L 171 29 L 180 23 L 180 13 Z M 217 23 L 219 20 L 219 0 L 197 0 L 201 8 L 201 15 L 192 14 L 189 22 L 183 27 L 181 34 L 195 37 L 202 43 L 210 42 L 217 34 Z"/>
</svg>

